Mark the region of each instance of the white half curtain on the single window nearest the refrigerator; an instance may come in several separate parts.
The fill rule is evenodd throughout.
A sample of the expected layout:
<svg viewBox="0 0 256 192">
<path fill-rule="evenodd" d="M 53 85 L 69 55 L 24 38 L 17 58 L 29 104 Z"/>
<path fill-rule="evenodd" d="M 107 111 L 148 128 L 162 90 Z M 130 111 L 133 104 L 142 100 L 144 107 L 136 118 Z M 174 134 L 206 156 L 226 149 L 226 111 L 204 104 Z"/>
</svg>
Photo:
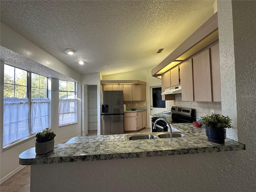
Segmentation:
<svg viewBox="0 0 256 192">
<path fill-rule="evenodd" d="M 77 122 L 77 99 L 59 99 L 59 125 Z"/>
</svg>

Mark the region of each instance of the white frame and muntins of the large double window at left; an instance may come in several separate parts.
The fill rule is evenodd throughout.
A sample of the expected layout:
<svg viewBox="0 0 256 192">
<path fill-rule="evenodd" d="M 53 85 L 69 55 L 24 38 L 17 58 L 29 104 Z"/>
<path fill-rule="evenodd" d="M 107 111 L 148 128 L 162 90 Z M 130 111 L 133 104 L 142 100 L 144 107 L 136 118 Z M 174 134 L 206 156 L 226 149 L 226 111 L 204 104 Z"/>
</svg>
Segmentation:
<svg viewBox="0 0 256 192">
<path fill-rule="evenodd" d="M 4 64 L 4 66 L 5 65 L 8 65 L 8 64 Z M 11 66 L 11 65 L 8 65 L 8 66 Z M 32 133 L 32 98 L 31 98 L 31 92 L 32 92 L 31 91 L 31 89 L 32 89 L 32 86 L 31 86 L 32 73 L 33 74 L 36 74 L 36 73 L 30 72 L 28 70 L 25 70 L 25 69 L 22 69 L 22 68 L 18 68 L 18 67 L 15 67 L 15 66 L 11 66 L 11 67 L 14 67 L 14 84 L 12 84 L 12 85 L 14 85 L 14 90 L 13 90 L 14 91 L 14 95 L 13 95 L 13 97 L 15 97 L 15 85 L 22 86 L 22 85 L 19 85 L 19 84 L 15 84 L 16 68 L 20 69 L 20 70 L 26 71 L 26 74 L 27 74 L 27 76 L 26 76 L 26 98 L 28 98 L 28 100 L 29 100 L 28 101 L 29 102 L 29 110 L 28 110 L 28 136 L 25 137 L 25 138 L 20 138 L 20 139 L 14 141 L 14 142 L 11 142 L 10 144 L 8 144 L 6 146 L 3 146 L 4 137 L 2 136 L 2 141 L 1 141 L 1 148 L 2 149 L 10 148 L 10 147 L 12 147 L 12 146 L 14 146 L 16 144 L 24 142 L 25 140 L 34 138 L 34 136 L 36 135 L 36 133 Z M 3 74 L 5 74 L 5 71 L 4 71 Z M 39 75 L 39 74 L 37 74 L 37 75 Z M 40 76 L 43 76 L 43 75 L 39 75 L 39 78 L 40 78 Z M 46 77 L 46 76 L 44 76 L 44 77 Z M 3 90 L 4 90 L 4 84 L 11 84 L 11 83 L 5 83 L 4 82 L 4 78 L 3 78 Z M 49 92 L 48 77 L 46 77 L 46 97 L 49 99 L 48 92 Z M 3 100 L 4 100 L 4 95 L 3 95 Z M 49 104 L 48 104 L 48 126 L 50 126 L 50 108 L 51 108 L 51 104 L 50 104 L 50 100 L 49 100 Z M 2 114 L 2 116 L 4 116 L 4 113 Z M 4 127 L 2 128 L 2 131 L 4 132 Z"/>
</svg>

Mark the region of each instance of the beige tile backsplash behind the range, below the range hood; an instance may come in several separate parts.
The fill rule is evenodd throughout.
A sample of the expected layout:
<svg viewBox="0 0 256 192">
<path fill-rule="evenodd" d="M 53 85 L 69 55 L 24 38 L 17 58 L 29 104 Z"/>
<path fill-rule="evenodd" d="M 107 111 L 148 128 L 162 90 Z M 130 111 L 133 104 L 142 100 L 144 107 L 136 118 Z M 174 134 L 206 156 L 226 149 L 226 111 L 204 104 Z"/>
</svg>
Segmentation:
<svg viewBox="0 0 256 192">
<path fill-rule="evenodd" d="M 196 110 L 196 117 L 210 115 L 211 110 L 215 113 L 222 114 L 221 102 L 196 102 L 196 101 L 182 101 L 181 94 L 175 95 L 174 101 L 168 101 L 168 108 L 172 106 L 181 106 L 186 108 L 192 108 Z"/>
</svg>

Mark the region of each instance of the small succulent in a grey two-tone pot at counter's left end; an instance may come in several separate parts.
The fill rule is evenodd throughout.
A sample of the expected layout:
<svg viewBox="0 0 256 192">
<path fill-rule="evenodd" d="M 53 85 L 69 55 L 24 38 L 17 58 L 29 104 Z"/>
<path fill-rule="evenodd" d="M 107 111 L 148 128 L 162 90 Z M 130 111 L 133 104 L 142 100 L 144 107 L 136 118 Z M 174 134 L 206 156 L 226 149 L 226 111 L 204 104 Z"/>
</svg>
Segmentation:
<svg viewBox="0 0 256 192">
<path fill-rule="evenodd" d="M 50 128 L 36 134 L 36 154 L 42 155 L 53 150 L 56 134 Z"/>
</svg>

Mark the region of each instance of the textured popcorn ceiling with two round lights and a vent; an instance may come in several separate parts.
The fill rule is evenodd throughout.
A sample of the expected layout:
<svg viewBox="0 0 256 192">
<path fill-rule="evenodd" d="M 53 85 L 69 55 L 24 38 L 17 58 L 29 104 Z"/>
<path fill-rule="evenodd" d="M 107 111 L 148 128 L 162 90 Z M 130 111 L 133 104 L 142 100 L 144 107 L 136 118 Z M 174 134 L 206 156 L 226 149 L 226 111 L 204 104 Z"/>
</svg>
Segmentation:
<svg viewBox="0 0 256 192">
<path fill-rule="evenodd" d="M 1 22 L 38 47 L 80 74 L 105 76 L 157 66 L 213 15 L 213 2 L 1 0 L 0 6 Z"/>
</svg>

